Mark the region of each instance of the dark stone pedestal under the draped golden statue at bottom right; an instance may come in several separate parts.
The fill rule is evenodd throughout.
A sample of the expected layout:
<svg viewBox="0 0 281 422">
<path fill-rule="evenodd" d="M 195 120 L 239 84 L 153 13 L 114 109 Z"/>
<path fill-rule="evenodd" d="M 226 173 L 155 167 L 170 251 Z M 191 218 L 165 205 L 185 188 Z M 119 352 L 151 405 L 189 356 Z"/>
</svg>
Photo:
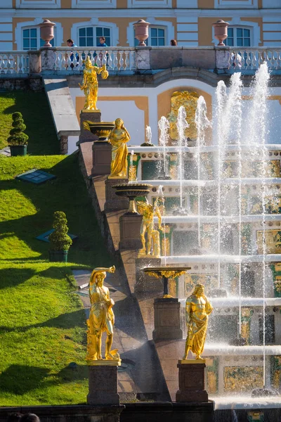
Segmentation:
<svg viewBox="0 0 281 422">
<path fill-rule="evenodd" d="M 177 366 L 178 391 L 176 392 L 176 402 L 208 402 L 208 393 L 204 390 L 205 360 L 179 360 Z"/>
</svg>

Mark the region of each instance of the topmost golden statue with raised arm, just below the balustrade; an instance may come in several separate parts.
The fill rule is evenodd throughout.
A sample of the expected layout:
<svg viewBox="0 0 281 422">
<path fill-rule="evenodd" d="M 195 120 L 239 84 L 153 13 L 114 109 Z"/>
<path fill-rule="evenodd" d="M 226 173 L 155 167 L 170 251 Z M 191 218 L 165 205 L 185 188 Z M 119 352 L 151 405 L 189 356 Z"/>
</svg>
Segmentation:
<svg viewBox="0 0 281 422">
<path fill-rule="evenodd" d="M 83 72 L 83 82 L 79 84 L 79 87 L 82 91 L 84 91 L 85 95 L 85 104 L 83 110 L 97 110 L 96 102 L 98 100 L 98 78 L 97 73 L 103 79 L 107 79 L 108 72 L 106 70 L 106 66 L 103 65 L 101 68 L 98 66 L 93 66 L 91 63 L 91 59 L 87 56 L 86 60 L 84 60 L 85 68 Z"/>
</svg>

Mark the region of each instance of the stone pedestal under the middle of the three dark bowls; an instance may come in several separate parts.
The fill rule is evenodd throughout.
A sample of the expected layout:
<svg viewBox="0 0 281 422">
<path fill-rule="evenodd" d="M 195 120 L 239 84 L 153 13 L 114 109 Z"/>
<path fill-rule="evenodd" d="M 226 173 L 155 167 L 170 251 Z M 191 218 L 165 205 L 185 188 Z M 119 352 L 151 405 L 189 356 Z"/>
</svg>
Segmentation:
<svg viewBox="0 0 281 422">
<path fill-rule="evenodd" d="M 120 217 L 120 241 L 119 249 L 141 249 L 143 243 L 141 243 L 141 222 L 143 220 L 142 215 L 122 215 Z"/>
</svg>

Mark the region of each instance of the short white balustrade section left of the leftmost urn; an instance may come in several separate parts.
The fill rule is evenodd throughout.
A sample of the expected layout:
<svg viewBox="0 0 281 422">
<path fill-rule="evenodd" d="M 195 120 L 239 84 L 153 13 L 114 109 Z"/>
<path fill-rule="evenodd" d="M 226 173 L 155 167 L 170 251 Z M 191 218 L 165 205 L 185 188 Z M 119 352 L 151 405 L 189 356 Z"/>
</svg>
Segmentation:
<svg viewBox="0 0 281 422">
<path fill-rule="evenodd" d="M 1 75 L 28 75 L 30 71 L 27 51 L 0 52 Z"/>
</svg>

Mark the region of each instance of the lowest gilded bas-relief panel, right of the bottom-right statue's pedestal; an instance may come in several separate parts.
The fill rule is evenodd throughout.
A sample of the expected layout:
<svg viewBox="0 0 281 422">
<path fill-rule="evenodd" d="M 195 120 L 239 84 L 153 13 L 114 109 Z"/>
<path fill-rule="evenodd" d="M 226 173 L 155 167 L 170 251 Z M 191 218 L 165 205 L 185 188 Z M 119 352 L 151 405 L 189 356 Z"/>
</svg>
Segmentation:
<svg viewBox="0 0 281 422">
<path fill-rule="evenodd" d="M 254 388 L 263 388 L 262 366 L 225 366 L 225 391 L 244 392 Z"/>
</svg>

